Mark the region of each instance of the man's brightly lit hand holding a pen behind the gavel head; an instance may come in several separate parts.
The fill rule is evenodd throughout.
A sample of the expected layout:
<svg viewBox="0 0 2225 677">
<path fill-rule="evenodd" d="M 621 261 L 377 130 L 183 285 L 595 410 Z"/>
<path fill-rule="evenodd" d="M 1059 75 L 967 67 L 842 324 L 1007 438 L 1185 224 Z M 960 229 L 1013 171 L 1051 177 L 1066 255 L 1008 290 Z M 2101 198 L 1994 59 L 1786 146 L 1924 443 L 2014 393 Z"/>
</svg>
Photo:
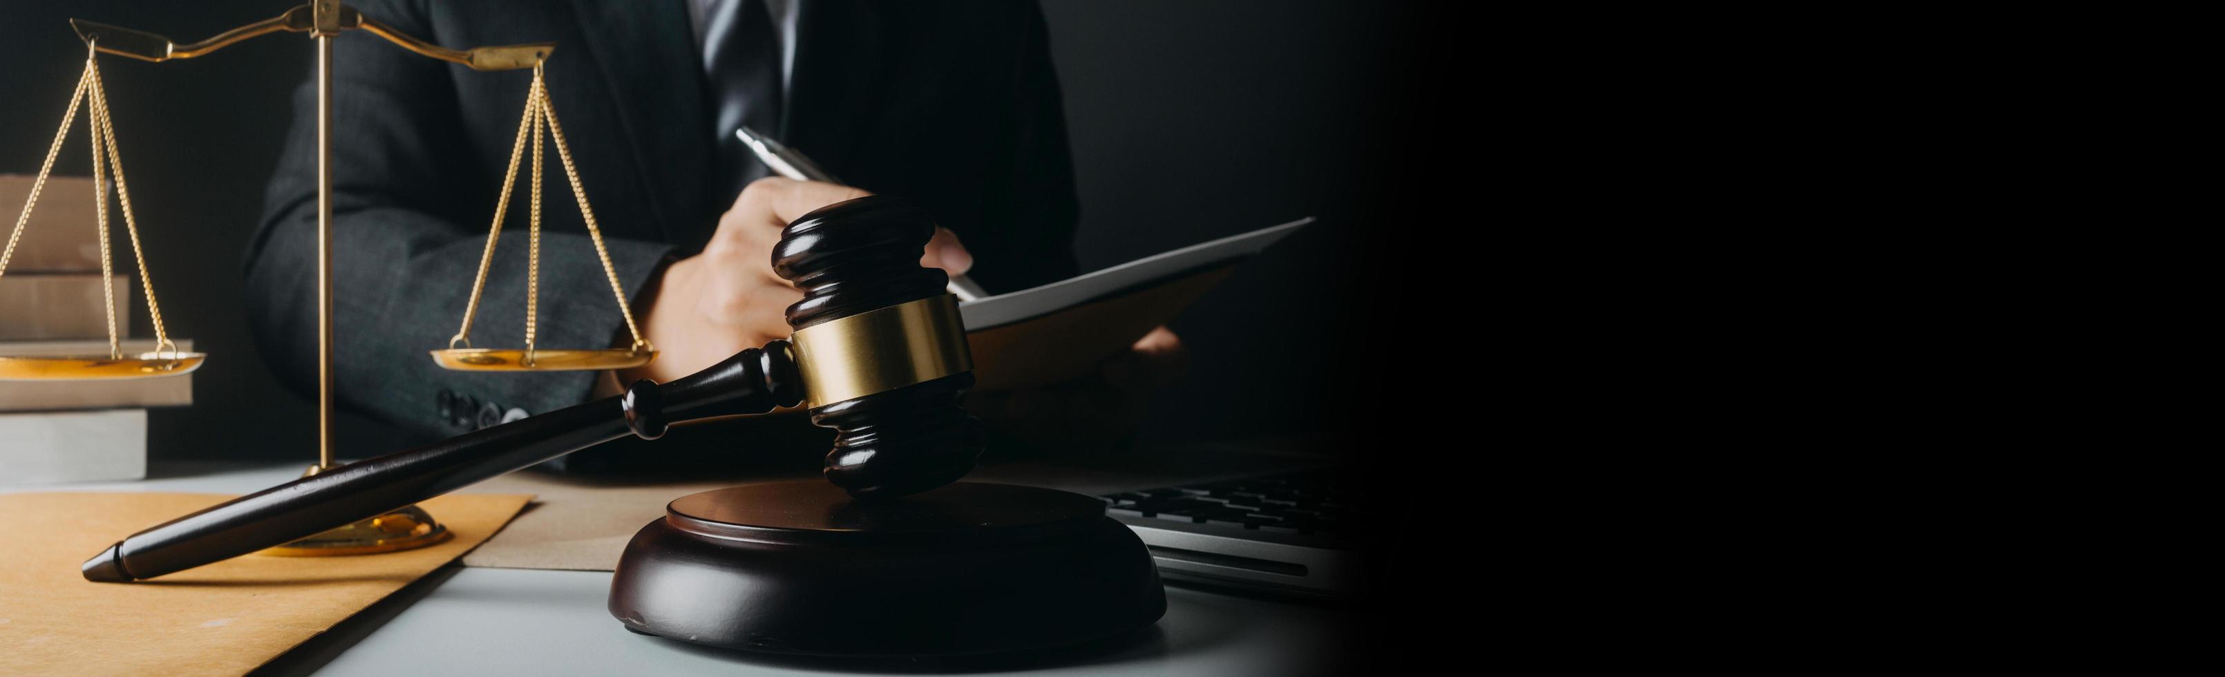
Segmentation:
<svg viewBox="0 0 2225 677">
<path fill-rule="evenodd" d="M 803 292 L 772 272 L 772 245 L 790 220 L 812 209 L 868 192 L 790 178 L 759 178 L 719 216 L 719 232 L 703 254 L 674 261 L 641 314 L 641 332 L 656 343 L 656 361 L 625 370 L 621 383 L 654 379 L 659 383 L 694 374 L 743 347 L 761 347 L 788 338 L 788 305 Z M 934 229 L 919 265 L 963 274 L 972 254 L 950 229 Z"/>
</svg>

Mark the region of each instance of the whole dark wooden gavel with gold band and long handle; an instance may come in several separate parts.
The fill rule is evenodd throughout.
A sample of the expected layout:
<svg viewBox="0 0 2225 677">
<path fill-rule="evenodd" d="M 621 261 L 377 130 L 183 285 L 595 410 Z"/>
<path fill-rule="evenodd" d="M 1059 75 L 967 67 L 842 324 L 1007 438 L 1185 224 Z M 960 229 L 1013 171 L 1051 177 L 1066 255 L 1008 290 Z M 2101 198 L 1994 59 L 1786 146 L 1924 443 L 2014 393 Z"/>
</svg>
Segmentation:
<svg viewBox="0 0 2225 677">
<path fill-rule="evenodd" d="M 283 546 L 625 434 L 805 403 L 839 430 L 825 479 L 859 501 L 957 481 L 981 454 L 959 396 L 972 359 L 946 274 L 919 265 L 934 220 L 892 196 L 821 207 L 781 232 L 772 267 L 803 290 L 794 334 L 672 383 L 356 461 L 171 519 L 87 559 L 91 581 L 138 581 Z"/>
</svg>

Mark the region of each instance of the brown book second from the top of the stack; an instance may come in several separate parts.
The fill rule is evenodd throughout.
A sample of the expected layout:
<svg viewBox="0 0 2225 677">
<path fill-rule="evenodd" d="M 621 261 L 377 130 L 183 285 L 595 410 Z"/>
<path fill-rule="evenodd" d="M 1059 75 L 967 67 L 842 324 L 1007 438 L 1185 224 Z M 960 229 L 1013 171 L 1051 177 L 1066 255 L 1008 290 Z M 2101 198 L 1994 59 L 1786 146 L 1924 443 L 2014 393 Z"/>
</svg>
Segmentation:
<svg viewBox="0 0 2225 677">
<path fill-rule="evenodd" d="M 131 336 L 131 276 L 116 276 L 116 334 Z M 100 274 L 0 276 L 0 341 L 109 338 Z M 102 347 L 105 352 L 105 347 Z"/>
</svg>

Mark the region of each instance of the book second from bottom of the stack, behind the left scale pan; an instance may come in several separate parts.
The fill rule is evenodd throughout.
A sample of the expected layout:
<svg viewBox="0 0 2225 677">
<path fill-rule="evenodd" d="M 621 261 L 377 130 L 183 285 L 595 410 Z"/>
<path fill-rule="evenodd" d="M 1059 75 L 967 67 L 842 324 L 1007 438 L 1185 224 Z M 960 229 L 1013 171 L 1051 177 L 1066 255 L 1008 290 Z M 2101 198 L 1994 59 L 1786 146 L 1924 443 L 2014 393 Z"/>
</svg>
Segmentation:
<svg viewBox="0 0 2225 677">
<path fill-rule="evenodd" d="M 191 352 L 191 338 L 178 338 Z M 151 352 L 154 338 L 122 341 L 125 354 Z M 0 356 L 107 354 L 109 341 L 0 343 Z M 194 403 L 194 374 L 105 381 L 7 381 L 0 379 L 0 412 L 185 408 Z"/>
</svg>

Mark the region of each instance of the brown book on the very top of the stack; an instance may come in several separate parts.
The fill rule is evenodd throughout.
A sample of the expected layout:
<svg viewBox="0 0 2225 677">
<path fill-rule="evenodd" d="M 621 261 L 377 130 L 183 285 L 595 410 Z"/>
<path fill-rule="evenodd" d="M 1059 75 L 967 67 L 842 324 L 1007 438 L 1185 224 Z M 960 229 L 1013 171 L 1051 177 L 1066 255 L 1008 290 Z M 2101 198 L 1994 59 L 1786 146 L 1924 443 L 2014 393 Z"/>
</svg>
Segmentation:
<svg viewBox="0 0 2225 677">
<path fill-rule="evenodd" d="M 38 176 L 0 174 L 0 245 L 16 229 L 22 203 L 31 198 Z M 122 227 L 116 205 L 109 205 L 109 234 Z M 47 187 L 38 192 L 38 209 L 16 238 L 16 256 L 7 263 L 7 274 L 31 272 L 100 272 L 100 214 L 93 212 L 91 176 L 47 176 Z"/>
</svg>

